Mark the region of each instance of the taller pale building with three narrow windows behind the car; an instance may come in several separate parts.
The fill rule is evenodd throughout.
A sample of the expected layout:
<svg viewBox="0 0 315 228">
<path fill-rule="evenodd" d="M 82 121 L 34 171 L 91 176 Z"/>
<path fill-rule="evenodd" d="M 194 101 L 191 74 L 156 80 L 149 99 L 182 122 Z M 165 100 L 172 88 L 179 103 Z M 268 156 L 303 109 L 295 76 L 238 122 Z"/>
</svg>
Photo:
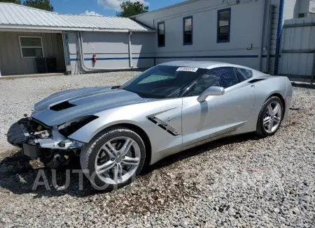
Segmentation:
<svg viewBox="0 0 315 228">
<path fill-rule="evenodd" d="M 190 0 L 132 18 L 165 33 L 163 45 L 155 36 L 156 63 L 209 59 L 274 73 L 283 21 L 308 16 L 310 5 L 309 0 Z M 193 40 L 188 44 L 185 22 Z"/>
</svg>

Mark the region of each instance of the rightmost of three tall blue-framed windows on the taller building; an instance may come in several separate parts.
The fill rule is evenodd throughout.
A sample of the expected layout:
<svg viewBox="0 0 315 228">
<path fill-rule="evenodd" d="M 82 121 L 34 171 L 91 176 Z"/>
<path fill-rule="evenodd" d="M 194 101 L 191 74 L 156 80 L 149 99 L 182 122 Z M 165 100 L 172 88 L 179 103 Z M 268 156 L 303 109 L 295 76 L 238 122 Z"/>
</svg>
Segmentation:
<svg viewBox="0 0 315 228">
<path fill-rule="evenodd" d="M 218 10 L 217 43 L 230 42 L 231 8 Z"/>
</svg>

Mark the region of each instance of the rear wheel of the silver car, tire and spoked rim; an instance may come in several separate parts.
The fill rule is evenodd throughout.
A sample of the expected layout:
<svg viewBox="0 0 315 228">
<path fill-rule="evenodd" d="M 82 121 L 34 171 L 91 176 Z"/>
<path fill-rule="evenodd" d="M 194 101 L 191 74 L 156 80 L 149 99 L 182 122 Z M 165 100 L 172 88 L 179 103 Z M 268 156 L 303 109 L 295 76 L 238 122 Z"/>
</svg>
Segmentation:
<svg viewBox="0 0 315 228">
<path fill-rule="evenodd" d="M 271 106 L 270 106 L 271 105 Z M 276 107 L 278 106 L 278 112 L 274 114 L 275 109 L 272 109 L 272 114 L 269 113 L 269 107 Z M 257 127 L 256 127 L 256 135 L 260 137 L 268 137 L 276 134 L 281 126 L 281 122 L 283 120 L 283 103 L 280 98 L 276 96 L 272 96 L 268 98 L 265 103 L 262 105 L 262 109 L 258 115 Z M 273 121 L 273 123 L 267 122 L 269 120 Z M 265 123 L 264 123 L 265 119 Z M 267 123 L 266 123 L 267 122 Z M 271 125 L 269 125 L 271 124 Z M 271 128 L 270 128 L 271 127 Z"/>
</svg>

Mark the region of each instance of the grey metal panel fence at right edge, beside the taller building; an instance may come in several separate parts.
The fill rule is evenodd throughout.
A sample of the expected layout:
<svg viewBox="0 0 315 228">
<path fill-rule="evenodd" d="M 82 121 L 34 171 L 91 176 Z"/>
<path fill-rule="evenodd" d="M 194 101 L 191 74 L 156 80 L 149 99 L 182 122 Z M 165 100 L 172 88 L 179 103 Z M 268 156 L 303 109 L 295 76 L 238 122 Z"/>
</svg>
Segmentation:
<svg viewBox="0 0 315 228">
<path fill-rule="evenodd" d="M 314 83 L 315 17 L 286 20 L 283 24 L 279 75 Z"/>
</svg>

